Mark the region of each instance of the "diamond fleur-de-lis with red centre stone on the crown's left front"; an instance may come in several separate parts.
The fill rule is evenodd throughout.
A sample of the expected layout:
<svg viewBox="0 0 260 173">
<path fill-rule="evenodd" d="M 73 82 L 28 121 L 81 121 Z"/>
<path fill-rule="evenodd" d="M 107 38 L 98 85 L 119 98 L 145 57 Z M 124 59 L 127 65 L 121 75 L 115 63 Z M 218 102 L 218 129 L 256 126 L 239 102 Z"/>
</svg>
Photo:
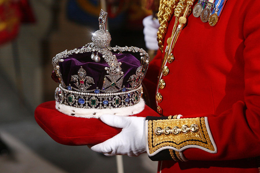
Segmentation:
<svg viewBox="0 0 260 173">
<path fill-rule="evenodd" d="M 86 74 L 86 70 L 80 66 L 78 75 L 71 76 L 70 81 L 75 82 L 74 84 L 79 89 L 78 91 L 87 91 L 87 89 L 91 86 L 90 84 L 95 84 L 93 78 L 86 76 Z"/>
</svg>

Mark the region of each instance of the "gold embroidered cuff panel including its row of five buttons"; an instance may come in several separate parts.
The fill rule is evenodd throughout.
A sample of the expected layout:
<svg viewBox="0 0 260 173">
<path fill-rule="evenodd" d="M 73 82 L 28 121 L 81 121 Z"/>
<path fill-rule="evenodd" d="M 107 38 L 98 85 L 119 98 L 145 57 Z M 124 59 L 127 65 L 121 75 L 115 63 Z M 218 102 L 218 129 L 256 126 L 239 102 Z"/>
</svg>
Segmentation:
<svg viewBox="0 0 260 173">
<path fill-rule="evenodd" d="M 173 147 L 176 151 L 201 148 L 216 153 L 216 148 L 212 144 L 214 141 L 211 140 L 211 133 L 207 127 L 204 117 L 148 120 L 149 154 L 165 146 Z"/>
</svg>

